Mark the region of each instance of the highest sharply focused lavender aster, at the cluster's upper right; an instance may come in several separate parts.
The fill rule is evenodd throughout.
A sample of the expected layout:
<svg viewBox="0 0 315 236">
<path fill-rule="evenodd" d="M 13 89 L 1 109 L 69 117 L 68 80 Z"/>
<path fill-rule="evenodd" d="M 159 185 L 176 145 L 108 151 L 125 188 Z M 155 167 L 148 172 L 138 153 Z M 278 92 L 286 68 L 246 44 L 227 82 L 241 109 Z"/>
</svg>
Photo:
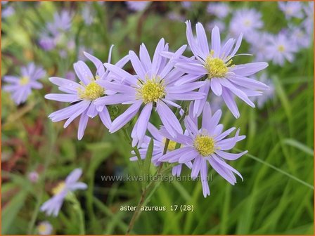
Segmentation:
<svg viewBox="0 0 315 236">
<path fill-rule="evenodd" d="M 242 34 L 236 41 L 229 39 L 221 46 L 219 28 L 212 29 L 211 50 L 207 43 L 207 36 L 203 25 L 196 25 L 197 38 L 193 37 L 191 22 L 187 21 L 187 40 L 191 47 L 191 51 L 197 60 L 177 60 L 175 67 L 200 79 L 206 77 L 205 85 L 199 91 L 209 93 L 211 89 L 217 96 L 222 96 L 229 110 L 234 117 L 238 118 L 240 113 L 236 105 L 234 96 L 237 96 L 251 107 L 255 107 L 254 103 L 248 98 L 251 96 L 259 96 L 259 90 L 268 89 L 268 86 L 259 81 L 248 78 L 252 74 L 263 70 L 268 66 L 267 63 L 246 63 L 241 65 L 232 65 L 232 58 L 236 56 L 236 52 L 242 41 Z M 233 47 L 234 46 L 234 47 Z M 203 110 L 203 106 L 207 96 L 202 100 L 196 100 L 194 103 L 193 114 L 199 116 Z"/>
</svg>

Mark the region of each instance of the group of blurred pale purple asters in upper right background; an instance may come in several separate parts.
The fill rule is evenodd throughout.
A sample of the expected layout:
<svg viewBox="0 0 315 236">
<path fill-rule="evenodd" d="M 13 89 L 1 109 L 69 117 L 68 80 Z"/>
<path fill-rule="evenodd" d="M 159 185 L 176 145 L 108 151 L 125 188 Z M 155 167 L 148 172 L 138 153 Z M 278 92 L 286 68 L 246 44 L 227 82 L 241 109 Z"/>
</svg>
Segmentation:
<svg viewBox="0 0 315 236">
<path fill-rule="evenodd" d="M 219 2 L 212 2 L 207 6 L 207 12 L 214 16 L 207 28 L 214 25 L 223 30 L 228 28 L 230 37 L 238 37 L 243 33 L 250 46 L 249 52 L 255 54 L 255 60 L 283 66 L 286 62 L 293 63 L 297 53 L 311 46 L 314 6 L 312 2 L 282 1 L 278 3 L 278 8 L 283 12 L 287 25 L 276 34 L 264 31 L 262 14 L 255 8 L 231 11 L 228 4 Z M 260 78 L 271 89 L 264 96 L 252 101 L 257 101 L 258 107 L 263 107 L 267 100 L 274 97 L 274 83 L 266 72 Z"/>
</svg>

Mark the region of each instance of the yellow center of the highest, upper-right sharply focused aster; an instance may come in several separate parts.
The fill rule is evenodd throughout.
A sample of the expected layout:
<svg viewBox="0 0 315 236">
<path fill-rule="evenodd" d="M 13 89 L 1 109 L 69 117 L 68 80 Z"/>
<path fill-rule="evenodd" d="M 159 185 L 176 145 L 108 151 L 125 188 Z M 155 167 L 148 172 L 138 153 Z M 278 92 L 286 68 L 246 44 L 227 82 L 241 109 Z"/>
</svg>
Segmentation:
<svg viewBox="0 0 315 236">
<path fill-rule="evenodd" d="M 214 51 L 210 51 L 210 55 L 205 58 L 205 69 L 208 72 L 208 79 L 222 78 L 225 77 L 226 73 L 229 72 L 228 66 L 232 63 L 229 60 L 228 63 L 224 63 L 221 58 L 213 58 Z"/>
</svg>

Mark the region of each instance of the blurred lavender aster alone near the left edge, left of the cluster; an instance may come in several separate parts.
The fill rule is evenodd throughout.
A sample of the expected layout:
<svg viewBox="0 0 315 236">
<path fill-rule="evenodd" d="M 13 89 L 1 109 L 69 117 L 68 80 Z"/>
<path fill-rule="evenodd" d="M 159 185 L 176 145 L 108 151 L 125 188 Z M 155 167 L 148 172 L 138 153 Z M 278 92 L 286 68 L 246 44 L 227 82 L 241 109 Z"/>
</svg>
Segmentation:
<svg viewBox="0 0 315 236">
<path fill-rule="evenodd" d="M 4 81 L 6 84 L 3 89 L 11 93 L 12 99 L 17 105 L 24 103 L 27 97 L 32 93 L 32 89 L 41 89 L 43 86 L 38 79 L 45 77 L 46 72 L 43 68 L 30 63 L 26 67 L 21 67 L 20 77 L 6 75 Z"/>
</svg>

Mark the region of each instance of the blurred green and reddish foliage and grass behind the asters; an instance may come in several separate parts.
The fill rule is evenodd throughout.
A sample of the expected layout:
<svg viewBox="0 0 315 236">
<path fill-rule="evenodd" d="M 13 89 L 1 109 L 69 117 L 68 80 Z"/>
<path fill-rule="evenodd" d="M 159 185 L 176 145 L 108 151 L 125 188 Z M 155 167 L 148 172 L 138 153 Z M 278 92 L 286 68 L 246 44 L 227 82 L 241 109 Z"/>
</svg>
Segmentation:
<svg viewBox="0 0 315 236">
<path fill-rule="evenodd" d="M 109 134 L 98 118 L 89 120 L 81 141 L 77 140 L 78 121 L 67 129 L 63 129 L 63 122 L 52 123 L 48 114 L 62 105 L 44 100 L 46 93 L 57 91 L 48 77 L 65 77 L 72 72 L 72 64 L 82 58 L 82 48 L 105 62 L 110 45 L 115 44 L 114 63 L 129 50 L 138 53 L 142 42 L 152 55 L 161 37 L 174 51 L 186 44 L 184 20 L 205 25 L 214 16 L 207 13 L 206 2 L 195 2 L 190 8 L 184 8 L 180 2 L 152 2 L 143 11 L 131 11 L 124 2 L 8 4 L 15 13 L 2 18 L 1 77 L 18 74 L 20 67 L 30 62 L 44 67 L 47 77 L 41 79 L 44 89 L 34 91 L 23 105 L 16 106 L 8 93 L 1 93 L 2 233 L 34 234 L 40 221 L 49 221 L 56 234 L 79 233 L 77 216 L 70 204 L 65 202 L 57 218 L 46 217 L 39 212 L 39 206 L 49 198 L 58 181 L 81 167 L 82 181 L 89 188 L 76 195 L 84 209 L 86 234 L 124 234 L 132 212 L 120 211 L 120 206 L 136 206 L 141 183 L 105 182 L 101 176 L 139 175 L 138 165 L 129 161 L 130 145 L 122 133 Z M 259 10 L 264 29 L 269 32 L 278 32 L 286 25 L 275 2 L 229 5 L 232 9 Z M 4 7 L 8 6 L 2 6 L 3 10 Z M 82 17 L 85 8 L 92 16 L 89 25 Z M 53 14 L 62 9 L 72 13 L 72 27 L 60 46 L 44 51 L 38 44 L 39 34 Z M 174 20 L 169 13 L 180 18 Z M 229 20 L 226 18 L 224 23 Z M 227 32 L 222 31 L 223 37 Z M 75 42 L 74 47 L 67 44 L 69 41 Z M 240 53 L 247 50 L 248 44 L 243 42 Z M 186 54 L 191 55 L 189 51 Z M 235 62 L 250 60 L 236 58 Z M 129 64 L 127 68 L 131 70 Z M 244 181 L 231 186 L 211 171 L 211 196 L 207 198 L 198 181 L 162 182 L 148 199 L 149 206 L 190 204 L 194 211 L 142 212 L 133 233 L 313 234 L 313 46 L 297 53 L 293 63 L 283 67 L 270 65 L 267 71 L 274 82 L 275 95 L 264 107 L 252 109 L 239 103 L 240 119 L 234 119 L 222 107 L 224 127 L 240 127 L 247 136 L 236 151 L 249 150 L 248 155 L 232 163 Z M 39 173 L 37 183 L 27 178 L 31 171 Z M 154 173 L 154 166 L 151 171 Z"/>
</svg>

